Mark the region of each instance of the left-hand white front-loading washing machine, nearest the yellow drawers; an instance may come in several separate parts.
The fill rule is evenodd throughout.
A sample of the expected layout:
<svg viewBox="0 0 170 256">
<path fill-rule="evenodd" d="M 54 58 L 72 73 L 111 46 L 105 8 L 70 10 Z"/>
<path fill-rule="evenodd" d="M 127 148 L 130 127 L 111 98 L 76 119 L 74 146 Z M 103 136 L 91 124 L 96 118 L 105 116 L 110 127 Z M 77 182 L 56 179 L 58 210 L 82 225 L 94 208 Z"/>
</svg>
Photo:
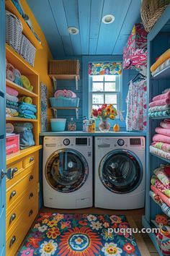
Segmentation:
<svg viewBox="0 0 170 256">
<path fill-rule="evenodd" d="M 91 207 L 92 187 L 92 137 L 44 137 L 44 205 L 62 209 Z"/>
</svg>

